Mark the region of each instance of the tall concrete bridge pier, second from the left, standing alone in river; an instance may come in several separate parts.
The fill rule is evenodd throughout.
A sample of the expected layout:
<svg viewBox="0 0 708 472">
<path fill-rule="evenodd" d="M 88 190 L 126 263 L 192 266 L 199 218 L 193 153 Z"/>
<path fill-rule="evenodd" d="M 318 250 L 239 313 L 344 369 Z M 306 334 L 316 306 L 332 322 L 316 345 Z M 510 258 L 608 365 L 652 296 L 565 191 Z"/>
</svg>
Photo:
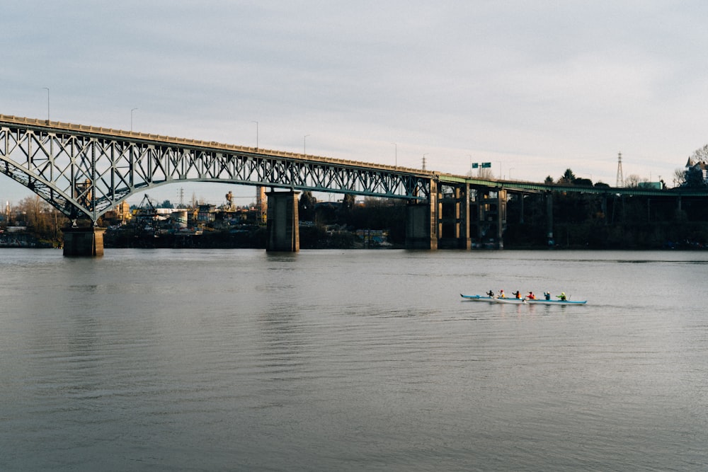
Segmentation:
<svg viewBox="0 0 708 472">
<path fill-rule="evenodd" d="M 268 195 L 268 240 L 265 251 L 297 253 L 300 250 L 299 221 L 297 218 L 297 194 L 290 192 L 267 192 Z"/>
</svg>

